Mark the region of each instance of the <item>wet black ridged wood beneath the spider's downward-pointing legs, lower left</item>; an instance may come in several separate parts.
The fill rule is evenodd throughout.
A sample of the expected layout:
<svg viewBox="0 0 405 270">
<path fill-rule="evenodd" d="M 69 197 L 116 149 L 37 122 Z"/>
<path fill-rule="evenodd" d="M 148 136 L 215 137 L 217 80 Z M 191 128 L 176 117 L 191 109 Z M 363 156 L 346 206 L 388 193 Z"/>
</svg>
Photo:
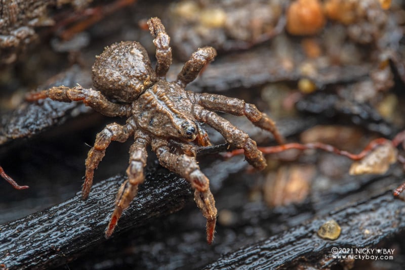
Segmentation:
<svg viewBox="0 0 405 270">
<path fill-rule="evenodd" d="M 189 184 L 158 165 L 149 166 L 133 207 L 119 220 L 115 235 L 181 209 L 191 198 Z M 124 177 L 108 178 L 92 189 L 45 211 L 0 226 L 0 262 L 10 269 L 46 269 L 104 242 L 104 229 Z"/>
</svg>

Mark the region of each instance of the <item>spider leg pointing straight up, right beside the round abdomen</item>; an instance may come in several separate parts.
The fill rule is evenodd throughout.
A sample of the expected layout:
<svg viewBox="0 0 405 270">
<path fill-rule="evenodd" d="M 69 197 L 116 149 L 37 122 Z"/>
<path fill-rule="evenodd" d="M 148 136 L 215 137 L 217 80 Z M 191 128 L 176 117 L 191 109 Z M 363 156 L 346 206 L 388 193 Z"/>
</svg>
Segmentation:
<svg viewBox="0 0 405 270">
<path fill-rule="evenodd" d="M 156 47 L 156 75 L 165 78 L 166 73 L 172 64 L 172 48 L 170 48 L 170 36 L 166 33 L 165 26 L 159 18 L 151 18 L 147 22 L 150 33 L 154 37 L 153 43 Z"/>
</svg>

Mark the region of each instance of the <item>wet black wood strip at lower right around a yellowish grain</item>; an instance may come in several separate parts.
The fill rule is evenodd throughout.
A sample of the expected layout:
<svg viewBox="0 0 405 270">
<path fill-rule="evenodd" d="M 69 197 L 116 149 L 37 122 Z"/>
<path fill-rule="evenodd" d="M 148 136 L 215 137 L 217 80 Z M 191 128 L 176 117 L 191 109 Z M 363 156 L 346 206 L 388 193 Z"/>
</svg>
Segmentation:
<svg viewBox="0 0 405 270">
<path fill-rule="evenodd" d="M 387 191 L 223 255 L 205 269 L 273 269 L 305 263 L 319 268 L 331 267 L 343 261 L 333 257 L 333 247 L 375 248 L 384 240 L 390 240 L 403 232 L 404 206 L 403 201 L 394 199 L 391 191 Z M 340 237 L 334 241 L 321 239 L 316 234 L 319 227 L 329 219 L 335 219 L 342 228 Z"/>
</svg>

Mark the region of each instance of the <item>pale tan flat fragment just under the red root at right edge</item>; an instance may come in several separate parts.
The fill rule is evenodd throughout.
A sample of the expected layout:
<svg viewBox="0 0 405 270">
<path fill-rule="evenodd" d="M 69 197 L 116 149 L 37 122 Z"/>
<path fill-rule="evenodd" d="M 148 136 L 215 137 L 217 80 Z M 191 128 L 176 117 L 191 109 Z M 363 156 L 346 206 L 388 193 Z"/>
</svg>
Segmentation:
<svg viewBox="0 0 405 270">
<path fill-rule="evenodd" d="M 349 173 L 351 175 L 365 174 L 365 173 L 385 173 L 389 165 L 396 162 L 397 150 L 391 142 L 386 142 L 371 151 L 363 159 L 353 162 L 350 167 Z"/>
</svg>

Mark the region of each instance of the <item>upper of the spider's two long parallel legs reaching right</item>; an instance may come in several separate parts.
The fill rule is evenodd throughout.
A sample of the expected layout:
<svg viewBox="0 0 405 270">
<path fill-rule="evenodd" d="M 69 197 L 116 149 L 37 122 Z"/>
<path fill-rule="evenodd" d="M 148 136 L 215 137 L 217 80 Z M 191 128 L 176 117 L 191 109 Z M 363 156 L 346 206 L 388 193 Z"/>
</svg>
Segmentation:
<svg viewBox="0 0 405 270">
<path fill-rule="evenodd" d="M 254 125 L 270 131 L 278 144 L 285 144 L 285 139 L 278 131 L 275 123 L 265 113 L 259 111 L 255 105 L 244 100 L 228 98 L 215 94 L 199 94 L 187 92 L 191 100 L 207 110 L 226 112 L 237 116 L 245 115 Z"/>
</svg>

